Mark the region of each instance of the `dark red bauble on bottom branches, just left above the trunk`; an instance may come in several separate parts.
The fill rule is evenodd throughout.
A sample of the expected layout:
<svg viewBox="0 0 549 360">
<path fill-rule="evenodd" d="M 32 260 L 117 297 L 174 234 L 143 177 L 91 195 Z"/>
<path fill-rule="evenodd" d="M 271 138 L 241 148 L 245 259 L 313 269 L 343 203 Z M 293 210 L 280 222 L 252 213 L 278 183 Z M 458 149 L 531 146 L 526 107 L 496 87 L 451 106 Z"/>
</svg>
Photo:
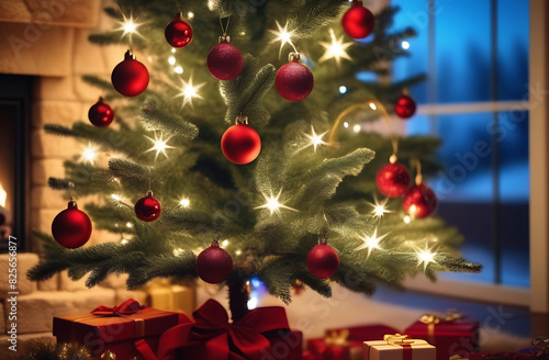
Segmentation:
<svg viewBox="0 0 549 360">
<path fill-rule="evenodd" d="M 219 284 L 227 280 L 233 270 L 233 259 L 227 251 L 220 248 L 217 241 L 203 250 L 197 257 L 197 273 L 200 279 L 211 284 Z"/>
</svg>

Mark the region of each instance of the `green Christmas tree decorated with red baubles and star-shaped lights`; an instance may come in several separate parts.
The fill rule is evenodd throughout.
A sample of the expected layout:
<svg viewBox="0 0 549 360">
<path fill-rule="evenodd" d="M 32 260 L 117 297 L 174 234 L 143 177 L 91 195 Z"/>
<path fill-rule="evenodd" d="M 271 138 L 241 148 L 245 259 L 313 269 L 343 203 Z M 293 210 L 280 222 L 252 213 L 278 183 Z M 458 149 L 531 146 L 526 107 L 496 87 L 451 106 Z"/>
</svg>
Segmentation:
<svg viewBox="0 0 549 360">
<path fill-rule="evenodd" d="M 128 273 L 135 289 L 200 277 L 228 286 L 238 319 L 250 277 L 290 303 L 296 280 L 325 296 L 330 281 L 372 294 L 406 274 L 480 270 L 459 257 L 458 230 L 432 215 L 422 176 L 439 170 L 440 140 L 391 132 L 415 110 L 405 89 L 424 79 L 390 81 L 391 60 L 407 54 L 395 44 L 415 35 L 391 30 L 399 9 L 373 18 L 347 0 L 116 2 L 105 11 L 119 25 L 90 41 L 130 50 L 111 81 L 86 77 L 103 89 L 91 124 L 46 125 L 91 144 L 49 185 L 68 199 L 102 194 L 85 207 L 94 227 L 131 236 L 80 247 L 91 223 L 70 201 L 53 236 L 37 234 L 43 262 L 31 279 L 68 270 L 93 286 Z M 372 122 L 390 135 L 361 128 Z"/>
</svg>

